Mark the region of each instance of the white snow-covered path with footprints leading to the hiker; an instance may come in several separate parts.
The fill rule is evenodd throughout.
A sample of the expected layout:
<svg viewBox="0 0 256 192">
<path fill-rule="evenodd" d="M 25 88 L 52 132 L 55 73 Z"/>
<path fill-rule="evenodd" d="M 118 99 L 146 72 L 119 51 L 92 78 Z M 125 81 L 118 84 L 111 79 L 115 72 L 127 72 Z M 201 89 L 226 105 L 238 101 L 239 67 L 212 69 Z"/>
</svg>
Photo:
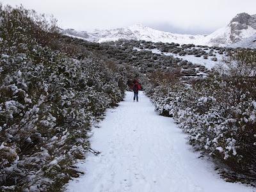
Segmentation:
<svg viewBox="0 0 256 192">
<path fill-rule="evenodd" d="M 220 179 L 211 163 L 191 152 L 172 118 L 157 115 L 143 93 L 140 102 L 131 94 L 93 128 L 92 148 L 101 154 L 78 164 L 85 174 L 67 191 L 256 191 Z"/>
</svg>

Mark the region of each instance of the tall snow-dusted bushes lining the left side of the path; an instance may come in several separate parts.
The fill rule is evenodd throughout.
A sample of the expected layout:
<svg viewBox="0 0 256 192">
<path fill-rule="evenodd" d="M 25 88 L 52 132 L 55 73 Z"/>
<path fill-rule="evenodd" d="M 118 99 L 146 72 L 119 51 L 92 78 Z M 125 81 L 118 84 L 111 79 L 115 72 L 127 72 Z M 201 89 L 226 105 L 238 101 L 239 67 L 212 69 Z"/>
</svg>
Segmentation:
<svg viewBox="0 0 256 192">
<path fill-rule="evenodd" d="M 0 18 L 0 191 L 58 191 L 77 177 L 93 121 L 123 99 L 125 69 L 60 49 L 44 15 L 6 6 Z"/>
</svg>

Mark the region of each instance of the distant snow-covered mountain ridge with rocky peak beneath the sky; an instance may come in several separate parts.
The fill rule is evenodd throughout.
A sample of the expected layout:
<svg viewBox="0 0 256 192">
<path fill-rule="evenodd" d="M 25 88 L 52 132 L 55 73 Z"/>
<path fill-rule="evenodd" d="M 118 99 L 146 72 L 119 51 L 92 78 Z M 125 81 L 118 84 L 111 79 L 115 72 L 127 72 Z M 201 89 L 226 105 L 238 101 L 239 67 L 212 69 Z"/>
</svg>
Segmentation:
<svg viewBox="0 0 256 192">
<path fill-rule="evenodd" d="M 256 33 L 256 15 L 239 13 L 227 26 L 214 31 L 210 35 L 180 35 L 148 28 L 141 24 L 127 28 L 95 30 L 93 32 L 65 29 L 63 33 L 99 43 L 124 38 L 127 40 L 146 40 L 151 42 L 226 46 L 239 42 Z"/>
</svg>

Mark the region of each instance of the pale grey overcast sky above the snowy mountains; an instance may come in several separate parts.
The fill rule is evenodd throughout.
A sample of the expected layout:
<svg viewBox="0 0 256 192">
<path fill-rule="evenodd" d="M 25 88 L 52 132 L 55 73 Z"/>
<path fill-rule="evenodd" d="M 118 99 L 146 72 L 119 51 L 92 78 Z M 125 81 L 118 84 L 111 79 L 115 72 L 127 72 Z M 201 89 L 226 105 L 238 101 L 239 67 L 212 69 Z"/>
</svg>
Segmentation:
<svg viewBox="0 0 256 192">
<path fill-rule="evenodd" d="M 0 0 L 52 14 L 61 28 L 92 31 L 144 24 L 162 31 L 207 34 L 241 12 L 256 14 L 256 0 Z"/>
</svg>

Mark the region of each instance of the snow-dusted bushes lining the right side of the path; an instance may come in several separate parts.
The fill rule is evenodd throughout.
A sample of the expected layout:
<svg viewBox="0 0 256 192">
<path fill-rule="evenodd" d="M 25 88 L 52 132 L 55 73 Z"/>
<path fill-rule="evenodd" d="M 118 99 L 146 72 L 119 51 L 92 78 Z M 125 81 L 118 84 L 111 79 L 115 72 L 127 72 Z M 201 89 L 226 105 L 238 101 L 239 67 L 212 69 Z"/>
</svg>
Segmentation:
<svg viewBox="0 0 256 192">
<path fill-rule="evenodd" d="M 255 181 L 256 53 L 237 52 L 226 66 L 192 83 L 166 83 L 162 75 L 147 92 L 158 111 L 179 122 L 191 145 Z"/>
</svg>

